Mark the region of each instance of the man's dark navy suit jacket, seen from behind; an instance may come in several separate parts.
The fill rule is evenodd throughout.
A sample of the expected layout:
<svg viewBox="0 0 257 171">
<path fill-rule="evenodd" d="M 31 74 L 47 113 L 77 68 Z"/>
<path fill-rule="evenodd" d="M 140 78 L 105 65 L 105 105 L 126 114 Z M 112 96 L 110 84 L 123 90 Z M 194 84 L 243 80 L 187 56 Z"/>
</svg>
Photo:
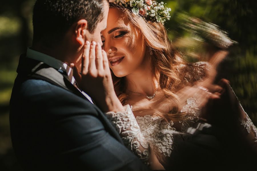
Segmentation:
<svg viewBox="0 0 257 171">
<path fill-rule="evenodd" d="M 57 70 L 21 55 L 17 72 L 10 127 L 25 170 L 148 170 L 105 114 Z"/>
</svg>

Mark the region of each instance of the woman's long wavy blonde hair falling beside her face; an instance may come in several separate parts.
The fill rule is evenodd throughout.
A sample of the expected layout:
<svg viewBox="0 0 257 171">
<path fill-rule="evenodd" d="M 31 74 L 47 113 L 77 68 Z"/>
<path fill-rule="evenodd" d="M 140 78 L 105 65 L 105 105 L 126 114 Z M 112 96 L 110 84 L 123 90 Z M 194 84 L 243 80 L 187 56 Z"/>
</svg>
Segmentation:
<svg viewBox="0 0 257 171">
<path fill-rule="evenodd" d="M 181 80 L 176 68 L 180 64 L 185 64 L 185 62 L 168 39 L 166 28 L 161 23 L 146 21 L 146 19 L 139 15 L 135 16 L 131 9 L 126 9 L 113 3 L 110 3 L 110 8 L 117 8 L 123 11 L 124 17 L 140 30 L 148 50 L 153 53 L 151 56 L 152 72 L 156 79 L 159 78 L 159 85 L 164 95 L 173 104 L 170 112 L 160 114 L 162 115 L 161 117 L 173 121 L 182 118 L 184 114 L 178 114 L 179 98 L 175 94 L 181 87 Z M 116 77 L 113 73 L 112 77 L 115 92 L 121 103 L 125 105 L 128 99 L 128 94 L 125 93 L 125 79 L 124 77 Z"/>
</svg>

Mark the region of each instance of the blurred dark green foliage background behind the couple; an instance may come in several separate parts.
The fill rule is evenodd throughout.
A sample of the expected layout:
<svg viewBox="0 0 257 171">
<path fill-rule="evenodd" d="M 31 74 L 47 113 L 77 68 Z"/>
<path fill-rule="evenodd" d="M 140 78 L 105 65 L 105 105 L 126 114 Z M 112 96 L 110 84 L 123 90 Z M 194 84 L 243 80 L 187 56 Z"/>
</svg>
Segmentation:
<svg viewBox="0 0 257 171">
<path fill-rule="evenodd" d="M 9 99 L 16 77 L 19 55 L 31 46 L 32 9 L 35 0 L 8 0 L 0 5 L 0 170 L 21 170 L 10 140 Z M 179 13 L 215 23 L 238 42 L 222 63 L 222 77 L 230 80 L 245 111 L 257 125 L 257 1 L 255 0 L 170 0 L 166 23 L 174 46 L 189 61 L 206 60 L 210 49 L 180 28 Z M 213 48 L 212 48 L 213 49 Z M 205 56 L 206 55 L 206 56 Z M 222 119 L 222 116 L 220 116 Z"/>
</svg>

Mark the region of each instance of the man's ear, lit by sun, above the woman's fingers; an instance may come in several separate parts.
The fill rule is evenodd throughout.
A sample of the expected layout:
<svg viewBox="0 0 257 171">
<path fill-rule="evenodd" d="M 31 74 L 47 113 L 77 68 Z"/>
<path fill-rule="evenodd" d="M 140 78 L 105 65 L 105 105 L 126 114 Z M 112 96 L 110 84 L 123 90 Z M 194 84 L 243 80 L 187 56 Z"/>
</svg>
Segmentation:
<svg viewBox="0 0 257 171">
<path fill-rule="evenodd" d="M 87 30 L 87 20 L 85 19 L 79 20 L 76 25 L 75 34 L 76 34 L 76 42 L 80 45 L 85 44 L 86 30 Z"/>
</svg>

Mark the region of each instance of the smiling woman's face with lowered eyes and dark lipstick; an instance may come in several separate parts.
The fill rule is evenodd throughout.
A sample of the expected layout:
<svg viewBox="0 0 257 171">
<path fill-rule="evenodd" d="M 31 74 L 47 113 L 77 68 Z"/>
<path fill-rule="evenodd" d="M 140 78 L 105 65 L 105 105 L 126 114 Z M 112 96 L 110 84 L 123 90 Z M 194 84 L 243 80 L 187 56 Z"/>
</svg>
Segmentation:
<svg viewBox="0 0 257 171">
<path fill-rule="evenodd" d="M 107 28 L 102 32 L 103 49 L 115 76 L 124 77 L 144 64 L 146 44 L 138 28 L 129 23 L 123 12 L 109 9 Z"/>
</svg>

